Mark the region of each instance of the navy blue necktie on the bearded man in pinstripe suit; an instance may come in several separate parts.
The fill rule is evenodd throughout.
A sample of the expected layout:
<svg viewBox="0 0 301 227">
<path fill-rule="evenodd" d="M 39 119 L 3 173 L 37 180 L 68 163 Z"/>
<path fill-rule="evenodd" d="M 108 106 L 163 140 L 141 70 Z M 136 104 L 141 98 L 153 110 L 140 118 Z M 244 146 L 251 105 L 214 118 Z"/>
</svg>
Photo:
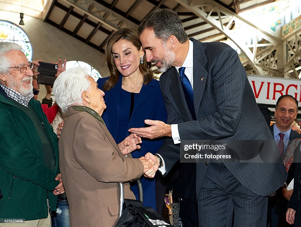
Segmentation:
<svg viewBox="0 0 301 227">
<path fill-rule="evenodd" d="M 193 119 L 196 120 L 197 118 L 195 117 L 194 102 L 193 102 L 193 89 L 184 71 L 185 71 L 185 67 L 179 68 L 179 74 L 181 77 L 185 99 Z"/>
</svg>

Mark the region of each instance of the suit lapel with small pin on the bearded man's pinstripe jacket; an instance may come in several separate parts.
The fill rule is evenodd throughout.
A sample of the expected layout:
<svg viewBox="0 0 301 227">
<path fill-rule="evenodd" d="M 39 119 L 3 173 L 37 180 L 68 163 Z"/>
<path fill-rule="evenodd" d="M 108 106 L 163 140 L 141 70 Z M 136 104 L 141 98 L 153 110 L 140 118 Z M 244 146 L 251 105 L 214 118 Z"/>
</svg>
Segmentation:
<svg viewBox="0 0 301 227">
<path fill-rule="evenodd" d="M 199 41 L 193 41 L 193 97 L 194 111 L 196 118 L 200 110 L 200 104 L 205 90 L 206 80 L 208 76 L 207 70 L 203 67 L 207 63 L 203 44 Z"/>
</svg>

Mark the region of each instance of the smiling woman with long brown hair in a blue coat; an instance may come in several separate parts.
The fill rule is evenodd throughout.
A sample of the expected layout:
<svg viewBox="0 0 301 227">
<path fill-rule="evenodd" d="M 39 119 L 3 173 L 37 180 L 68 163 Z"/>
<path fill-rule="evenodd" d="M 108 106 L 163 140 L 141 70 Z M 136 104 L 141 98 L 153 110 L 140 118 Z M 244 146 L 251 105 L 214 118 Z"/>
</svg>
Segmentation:
<svg viewBox="0 0 301 227">
<path fill-rule="evenodd" d="M 136 31 L 123 28 L 113 32 L 106 44 L 105 59 L 110 77 L 99 78 L 97 83 L 105 92 L 107 105 L 102 118 L 116 143 L 130 134 L 129 128 L 145 127 L 145 119 L 166 122 L 159 81 L 153 79 Z M 156 153 L 163 143 L 163 139 L 142 140 L 141 149 L 131 153 L 133 158 Z M 155 180 L 142 176 L 141 183 L 143 205 L 156 210 Z M 137 185 L 134 183 L 131 188 L 138 199 Z"/>
</svg>

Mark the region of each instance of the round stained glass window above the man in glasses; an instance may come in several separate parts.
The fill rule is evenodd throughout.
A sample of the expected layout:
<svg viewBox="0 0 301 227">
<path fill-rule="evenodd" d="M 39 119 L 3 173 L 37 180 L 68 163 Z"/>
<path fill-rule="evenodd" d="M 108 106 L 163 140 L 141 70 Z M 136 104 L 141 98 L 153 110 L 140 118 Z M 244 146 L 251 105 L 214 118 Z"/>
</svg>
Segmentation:
<svg viewBox="0 0 301 227">
<path fill-rule="evenodd" d="M 0 42 L 12 42 L 19 44 L 29 61 L 33 58 L 33 48 L 28 36 L 16 24 L 0 20 Z"/>
</svg>

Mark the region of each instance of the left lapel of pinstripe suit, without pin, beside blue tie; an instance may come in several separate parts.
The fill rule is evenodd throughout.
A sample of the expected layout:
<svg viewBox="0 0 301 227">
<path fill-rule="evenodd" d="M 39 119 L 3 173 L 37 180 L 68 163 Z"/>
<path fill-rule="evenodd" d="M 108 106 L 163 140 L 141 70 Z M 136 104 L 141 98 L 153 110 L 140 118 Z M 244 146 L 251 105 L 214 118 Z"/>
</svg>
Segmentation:
<svg viewBox="0 0 301 227">
<path fill-rule="evenodd" d="M 172 67 L 168 71 L 168 73 L 169 73 L 169 75 L 166 75 L 166 76 L 168 78 L 170 78 L 170 80 L 171 80 L 171 83 L 169 85 L 169 90 L 176 103 L 176 106 L 178 106 L 178 109 L 180 111 L 179 115 L 185 121 L 191 121 L 192 116 L 188 109 L 188 105 L 187 105 L 187 102 L 185 99 L 182 83 L 180 80 L 180 75 L 179 75 L 178 71 L 175 69 L 175 67 Z"/>
</svg>

